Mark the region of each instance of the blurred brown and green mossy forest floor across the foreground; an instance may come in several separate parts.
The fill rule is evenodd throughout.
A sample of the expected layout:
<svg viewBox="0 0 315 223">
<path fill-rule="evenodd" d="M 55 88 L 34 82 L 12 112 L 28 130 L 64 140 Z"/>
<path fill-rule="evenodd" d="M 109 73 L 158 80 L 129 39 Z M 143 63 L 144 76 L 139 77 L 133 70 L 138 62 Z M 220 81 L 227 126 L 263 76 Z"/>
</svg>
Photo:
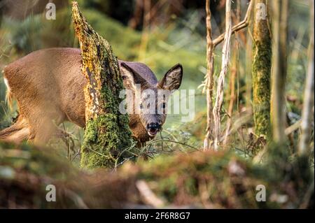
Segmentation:
<svg viewBox="0 0 315 223">
<path fill-rule="evenodd" d="M 1 143 L 0 208 L 314 208 L 308 158 L 288 162 L 279 151 L 270 147 L 263 165 L 221 151 L 85 171 L 49 148 Z M 55 202 L 46 201 L 48 185 Z"/>
</svg>

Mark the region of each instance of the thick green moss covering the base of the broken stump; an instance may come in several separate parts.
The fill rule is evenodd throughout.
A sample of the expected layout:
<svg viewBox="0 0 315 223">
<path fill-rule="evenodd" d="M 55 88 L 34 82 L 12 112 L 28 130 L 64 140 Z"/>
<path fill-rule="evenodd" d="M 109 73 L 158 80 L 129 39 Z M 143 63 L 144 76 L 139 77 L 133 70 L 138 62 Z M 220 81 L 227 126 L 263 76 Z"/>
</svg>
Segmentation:
<svg viewBox="0 0 315 223">
<path fill-rule="evenodd" d="M 100 115 L 87 122 L 81 148 L 81 166 L 113 168 L 123 158 L 131 157 L 128 152 L 121 154 L 131 145 L 127 117 L 118 118 L 112 113 Z"/>
</svg>

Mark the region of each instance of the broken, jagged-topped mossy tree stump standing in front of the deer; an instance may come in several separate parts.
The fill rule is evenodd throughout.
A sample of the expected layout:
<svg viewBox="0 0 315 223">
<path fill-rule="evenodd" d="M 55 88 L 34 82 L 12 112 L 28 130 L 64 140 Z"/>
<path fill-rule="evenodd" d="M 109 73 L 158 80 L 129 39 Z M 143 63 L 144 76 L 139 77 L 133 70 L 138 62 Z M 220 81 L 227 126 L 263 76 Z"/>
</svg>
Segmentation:
<svg viewBox="0 0 315 223">
<path fill-rule="evenodd" d="M 81 148 L 81 166 L 113 168 L 132 145 L 129 117 L 119 112 L 119 92 L 124 89 L 118 61 L 111 45 L 87 23 L 72 5 L 73 24 L 80 42 L 82 71 L 87 78 L 85 95 L 85 134 Z"/>
</svg>

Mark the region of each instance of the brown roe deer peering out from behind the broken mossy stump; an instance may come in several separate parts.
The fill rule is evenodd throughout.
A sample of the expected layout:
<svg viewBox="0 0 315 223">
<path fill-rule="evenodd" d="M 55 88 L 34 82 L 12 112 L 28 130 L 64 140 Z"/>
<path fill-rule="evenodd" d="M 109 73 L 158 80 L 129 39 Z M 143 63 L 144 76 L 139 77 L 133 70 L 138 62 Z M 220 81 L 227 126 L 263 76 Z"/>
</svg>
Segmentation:
<svg viewBox="0 0 315 223">
<path fill-rule="evenodd" d="M 76 48 L 48 48 L 31 52 L 9 64 L 3 71 L 8 88 L 8 102 L 13 97 L 18 102 L 20 115 L 17 122 L 0 131 L 0 140 L 20 143 L 22 140 L 35 144 L 47 143 L 57 134 L 57 126 L 69 121 L 85 127 L 85 99 L 83 87 L 87 80 L 83 75 L 80 50 Z M 136 92 L 141 89 L 173 91 L 181 85 L 183 68 L 177 64 L 167 71 L 158 82 L 145 64 L 118 60 L 125 89 Z M 158 103 L 158 100 L 155 100 Z M 146 97 L 141 96 L 140 103 Z M 127 101 L 127 106 L 133 101 Z M 162 102 L 166 107 L 167 99 Z M 160 106 L 157 104 L 157 106 Z M 166 112 L 130 114 L 130 129 L 140 143 L 151 140 L 162 128 Z"/>
</svg>

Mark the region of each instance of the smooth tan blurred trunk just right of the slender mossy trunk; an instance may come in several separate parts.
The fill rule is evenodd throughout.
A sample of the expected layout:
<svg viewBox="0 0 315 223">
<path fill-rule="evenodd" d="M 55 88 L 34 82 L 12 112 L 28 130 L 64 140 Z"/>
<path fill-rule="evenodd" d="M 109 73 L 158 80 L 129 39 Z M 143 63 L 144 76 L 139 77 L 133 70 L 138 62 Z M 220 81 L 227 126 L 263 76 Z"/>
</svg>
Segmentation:
<svg viewBox="0 0 315 223">
<path fill-rule="evenodd" d="M 286 89 L 287 27 L 288 0 L 273 0 L 271 122 L 272 136 L 276 143 L 283 143 L 286 139 L 284 93 Z"/>
</svg>

